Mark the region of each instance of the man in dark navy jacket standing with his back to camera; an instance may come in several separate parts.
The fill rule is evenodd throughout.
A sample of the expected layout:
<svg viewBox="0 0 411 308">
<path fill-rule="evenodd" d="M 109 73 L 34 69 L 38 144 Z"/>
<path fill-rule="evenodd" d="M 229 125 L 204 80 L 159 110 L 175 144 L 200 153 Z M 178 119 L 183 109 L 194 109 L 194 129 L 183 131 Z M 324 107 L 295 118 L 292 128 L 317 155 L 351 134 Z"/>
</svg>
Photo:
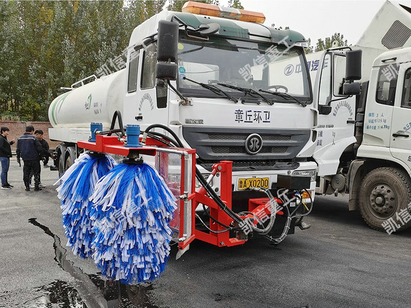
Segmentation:
<svg viewBox="0 0 411 308">
<path fill-rule="evenodd" d="M 34 190 L 41 190 L 40 185 L 40 160 L 44 159 L 43 147 L 39 139 L 33 136 L 34 127 L 27 126 L 23 136 L 17 138 L 16 156 L 17 163 L 21 166 L 20 157 L 23 159 L 23 181 L 26 190 L 30 191 L 30 172 L 34 174 Z"/>
</svg>

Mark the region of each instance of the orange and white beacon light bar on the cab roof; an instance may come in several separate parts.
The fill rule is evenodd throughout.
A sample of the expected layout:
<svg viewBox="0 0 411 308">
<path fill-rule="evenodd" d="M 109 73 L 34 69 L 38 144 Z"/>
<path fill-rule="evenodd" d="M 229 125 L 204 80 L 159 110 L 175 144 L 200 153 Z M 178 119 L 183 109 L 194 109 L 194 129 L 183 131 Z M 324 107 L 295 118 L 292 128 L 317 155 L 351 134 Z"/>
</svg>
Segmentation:
<svg viewBox="0 0 411 308">
<path fill-rule="evenodd" d="M 221 18 L 228 18 L 242 22 L 262 24 L 266 20 L 263 13 L 227 8 L 212 4 L 188 1 L 184 3 L 182 9 L 184 13 L 200 14 Z"/>
</svg>

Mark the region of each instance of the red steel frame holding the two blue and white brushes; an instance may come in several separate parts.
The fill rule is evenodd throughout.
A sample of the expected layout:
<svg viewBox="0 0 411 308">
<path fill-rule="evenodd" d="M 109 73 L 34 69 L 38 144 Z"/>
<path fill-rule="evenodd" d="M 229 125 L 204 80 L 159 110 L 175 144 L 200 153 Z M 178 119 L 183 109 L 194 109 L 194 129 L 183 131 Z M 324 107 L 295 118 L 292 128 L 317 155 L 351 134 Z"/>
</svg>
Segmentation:
<svg viewBox="0 0 411 308">
<path fill-rule="evenodd" d="M 133 153 L 139 153 L 142 155 L 148 156 L 155 156 L 158 150 L 158 146 L 164 147 L 164 144 L 158 142 L 154 139 L 147 138 L 146 145 L 142 147 L 124 147 L 124 143 L 118 140 L 116 136 L 102 136 L 96 134 L 96 142 L 88 142 L 88 141 L 79 141 L 77 145 L 81 148 L 96 151 L 96 152 L 103 152 L 103 153 L 111 153 L 120 156 L 129 156 Z M 188 191 L 188 194 L 185 197 L 185 201 L 191 201 L 191 235 L 184 238 L 184 199 L 179 200 L 179 215 L 180 215 L 180 224 L 179 224 L 179 249 L 184 249 L 188 246 L 194 239 L 198 239 L 204 242 L 208 242 L 210 244 L 222 247 L 222 246 L 235 246 L 244 244 L 247 240 L 237 239 L 235 237 L 230 237 L 230 232 L 222 232 L 222 233 L 212 233 L 212 232 L 203 232 L 201 230 L 196 229 L 195 225 L 195 210 L 199 204 L 204 204 L 210 208 L 210 215 L 218 220 L 219 222 L 227 225 L 227 226 L 234 226 L 233 219 L 226 214 L 224 210 L 222 210 L 217 203 L 207 195 L 206 189 L 200 187 L 198 191 L 195 191 L 195 150 L 194 149 L 182 149 L 192 157 L 191 168 L 192 168 L 192 179 L 191 180 L 191 191 Z M 167 163 L 167 162 L 165 162 Z M 220 173 L 220 198 L 226 204 L 228 208 L 232 208 L 232 164 L 231 161 L 221 161 L 217 164 L 213 165 L 212 175 L 216 175 L 217 172 Z M 184 156 L 181 156 L 181 185 L 180 185 L 180 194 L 181 196 L 184 195 L 184 191 L 188 189 L 188 187 L 184 187 L 185 183 L 185 160 Z M 268 198 L 257 198 L 257 199 L 250 199 L 249 200 L 249 211 L 252 213 L 258 213 L 261 209 L 265 208 L 265 212 L 269 215 L 270 210 L 266 208 L 265 204 L 268 201 Z M 279 202 L 278 200 L 276 200 Z M 189 215 L 189 213 L 187 213 Z M 278 215 L 283 215 L 283 213 L 278 212 Z M 253 218 L 252 215 L 241 216 L 241 218 Z M 257 223 L 254 220 L 254 223 Z M 210 229 L 213 231 L 221 231 L 225 229 L 225 227 L 215 223 L 212 219 L 210 219 Z"/>
</svg>

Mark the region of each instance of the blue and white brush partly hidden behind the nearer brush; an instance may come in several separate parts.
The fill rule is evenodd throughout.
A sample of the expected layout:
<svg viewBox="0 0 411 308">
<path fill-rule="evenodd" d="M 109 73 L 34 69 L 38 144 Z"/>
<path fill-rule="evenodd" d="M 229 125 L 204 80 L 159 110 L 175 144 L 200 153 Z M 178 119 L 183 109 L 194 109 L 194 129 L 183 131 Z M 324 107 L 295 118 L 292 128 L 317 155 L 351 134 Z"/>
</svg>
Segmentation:
<svg viewBox="0 0 411 308">
<path fill-rule="evenodd" d="M 91 242 L 94 238 L 89 218 L 92 207 L 89 197 L 98 180 L 116 165 L 113 158 L 105 155 L 82 153 L 64 172 L 57 183 L 63 215 L 63 227 L 74 255 L 91 257 Z M 56 184 L 57 184 L 56 183 Z M 54 184 L 55 185 L 55 184 Z"/>
</svg>

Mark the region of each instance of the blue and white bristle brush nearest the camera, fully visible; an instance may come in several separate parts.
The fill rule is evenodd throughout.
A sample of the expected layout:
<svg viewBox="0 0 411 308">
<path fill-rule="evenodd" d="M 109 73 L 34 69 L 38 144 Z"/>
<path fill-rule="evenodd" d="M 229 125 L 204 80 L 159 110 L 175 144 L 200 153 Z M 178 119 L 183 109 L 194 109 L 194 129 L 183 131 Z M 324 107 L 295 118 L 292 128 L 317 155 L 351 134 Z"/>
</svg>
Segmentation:
<svg viewBox="0 0 411 308">
<path fill-rule="evenodd" d="M 170 254 L 176 198 L 157 170 L 119 164 L 96 184 L 90 198 L 97 267 L 108 278 L 136 284 L 152 281 Z"/>
</svg>

